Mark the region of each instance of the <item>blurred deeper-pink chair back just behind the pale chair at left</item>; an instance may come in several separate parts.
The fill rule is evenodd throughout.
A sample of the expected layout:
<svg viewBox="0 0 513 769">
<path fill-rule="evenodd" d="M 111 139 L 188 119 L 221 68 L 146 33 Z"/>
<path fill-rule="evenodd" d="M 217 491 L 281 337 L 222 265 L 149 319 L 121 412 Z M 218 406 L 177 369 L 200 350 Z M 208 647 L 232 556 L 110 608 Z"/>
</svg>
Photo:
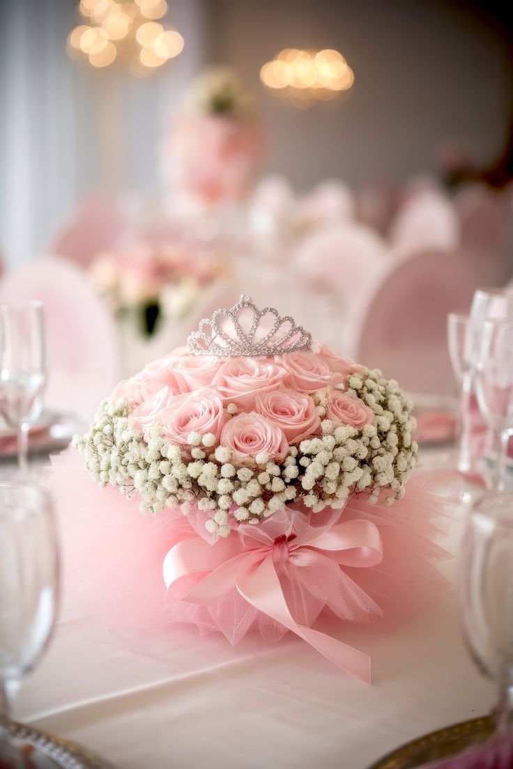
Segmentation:
<svg viewBox="0 0 513 769">
<path fill-rule="evenodd" d="M 87 267 L 98 254 L 115 245 L 125 228 L 127 222 L 114 200 L 91 197 L 57 233 L 49 251 Z"/>
</svg>

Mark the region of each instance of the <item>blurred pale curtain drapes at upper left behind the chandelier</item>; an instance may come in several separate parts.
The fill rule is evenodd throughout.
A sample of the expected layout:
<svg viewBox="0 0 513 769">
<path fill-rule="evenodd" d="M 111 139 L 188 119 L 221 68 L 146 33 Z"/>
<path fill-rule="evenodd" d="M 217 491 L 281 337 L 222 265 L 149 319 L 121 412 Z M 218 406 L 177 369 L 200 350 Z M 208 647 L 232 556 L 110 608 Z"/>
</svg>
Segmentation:
<svg viewBox="0 0 513 769">
<path fill-rule="evenodd" d="M 8 265 L 47 251 L 85 195 L 155 194 L 165 122 L 208 58 L 204 0 L 169 5 L 163 23 L 182 33 L 184 50 L 139 80 L 68 58 L 68 33 L 83 22 L 75 0 L 2 4 L 0 251 Z"/>
</svg>

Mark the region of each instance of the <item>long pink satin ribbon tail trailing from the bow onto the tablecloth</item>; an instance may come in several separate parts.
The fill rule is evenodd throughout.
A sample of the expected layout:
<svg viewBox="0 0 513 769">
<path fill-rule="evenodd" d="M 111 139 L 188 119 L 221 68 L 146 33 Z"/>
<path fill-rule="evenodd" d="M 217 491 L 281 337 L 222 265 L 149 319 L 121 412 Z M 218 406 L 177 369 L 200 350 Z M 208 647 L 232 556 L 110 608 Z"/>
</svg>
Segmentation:
<svg viewBox="0 0 513 769">
<path fill-rule="evenodd" d="M 331 635 L 298 624 L 292 617 L 281 589 L 272 554 L 268 555 L 256 568 L 241 569 L 235 578 L 235 584 L 242 598 L 258 611 L 285 625 L 318 652 L 327 657 L 349 675 L 371 683 L 371 658 Z"/>
</svg>

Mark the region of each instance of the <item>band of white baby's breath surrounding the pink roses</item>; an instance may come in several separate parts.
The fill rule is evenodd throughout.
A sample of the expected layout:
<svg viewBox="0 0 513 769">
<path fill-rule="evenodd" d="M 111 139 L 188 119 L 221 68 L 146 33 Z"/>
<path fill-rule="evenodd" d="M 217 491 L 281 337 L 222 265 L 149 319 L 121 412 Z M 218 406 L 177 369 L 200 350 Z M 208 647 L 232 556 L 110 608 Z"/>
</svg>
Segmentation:
<svg viewBox="0 0 513 769">
<path fill-rule="evenodd" d="M 298 498 L 320 512 L 341 509 L 355 492 L 376 502 L 386 490 L 383 501 L 391 504 L 405 494 L 415 468 L 411 401 L 377 370 L 351 375 L 345 391 L 371 409 L 372 424 L 358 429 L 323 418 L 321 435 L 289 446 L 280 464 L 261 452 L 254 468 L 240 467 L 228 447 L 215 445 L 213 433 L 193 431 L 186 450 L 170 444 L 158 424 L 142 434 L 131 427 L 122 400 L 103 401 L 89 431 L 73 444 L 98 484 L 117 486 L 128 497 L 138 494 L 145 514 L 176 507 L 188 514 L 195 505 L 208 515 L 207 531 L 218 537 L 228 537 L 242 522 L 258 524 Z M 326 388 L 312 397 L 318 410 L 325 409 Z M 227 411 L 237 409 L 228 404 Z"/>
</svg>

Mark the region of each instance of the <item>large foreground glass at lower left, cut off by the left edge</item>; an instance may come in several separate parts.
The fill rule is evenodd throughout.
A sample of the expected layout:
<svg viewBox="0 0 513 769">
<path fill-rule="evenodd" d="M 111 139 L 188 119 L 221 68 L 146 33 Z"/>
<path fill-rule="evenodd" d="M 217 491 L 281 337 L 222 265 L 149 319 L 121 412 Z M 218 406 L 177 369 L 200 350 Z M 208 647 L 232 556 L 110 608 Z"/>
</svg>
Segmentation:
<svg viewBox="0 0 513 769">
<path fill-rule="evenodd" d="M 25 766 L 9 739 L 9 700 L 55 624 L 58 545 L 52 504 L 37 486 L 0 483 L 0 764 Z"/>
</svg>

